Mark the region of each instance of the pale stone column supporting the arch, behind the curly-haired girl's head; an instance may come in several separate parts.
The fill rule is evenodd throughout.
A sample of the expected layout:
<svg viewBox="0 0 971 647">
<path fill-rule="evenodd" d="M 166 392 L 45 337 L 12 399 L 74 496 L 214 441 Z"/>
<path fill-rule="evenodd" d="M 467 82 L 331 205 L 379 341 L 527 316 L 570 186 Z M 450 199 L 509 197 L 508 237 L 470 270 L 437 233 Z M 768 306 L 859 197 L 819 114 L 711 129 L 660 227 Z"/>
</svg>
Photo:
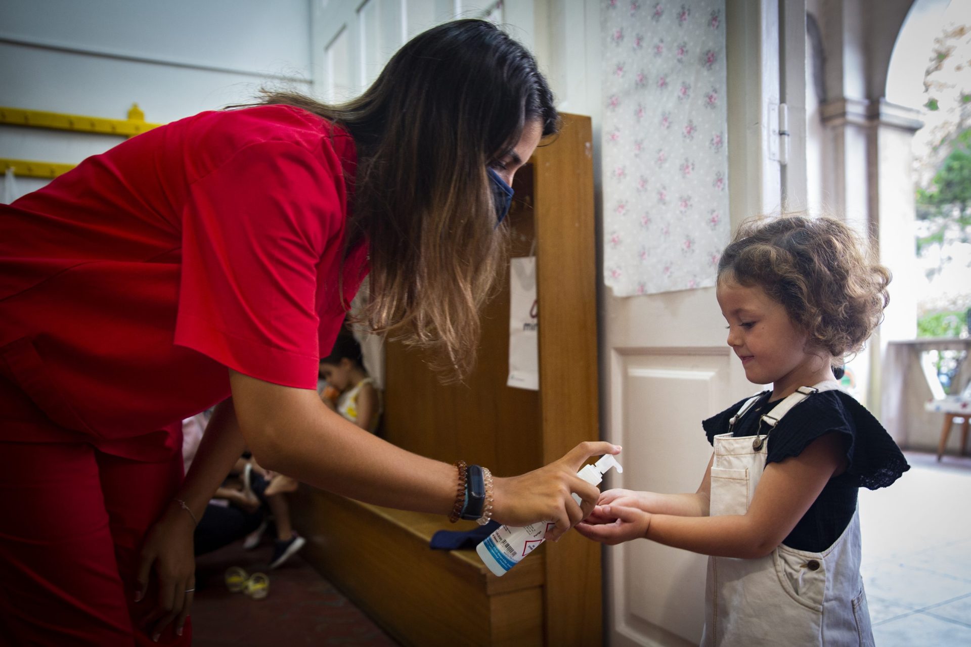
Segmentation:
<svg viewBox="0 0 971 647">
<path fill-rule="evenodd" d="M 815 127 L 820 138 L 815 143 L 820 195 L 811 196 L 810 202 L 841 214 L 870 236 L 895 276 L 885 325 L 871 348 L 850 365 L 860 382 L 860 397 L 878 416 L 881 394 L 891 387 L 882 370 L 887 342 L 916 334 L 914 244 L 899 233 L 913 229 L 911 140 L 921 121 L 913 107 L 887 101 L 887 76 L 914 6 L 935 1 L 807 2 L 819 27 L 818 35 L 809 34 L 810 47 L 814 49 L 813 41 L 815 49 L 821 46 L 816 62 L 823 68 L 822 82 L 807 87 L 818 101 L 819 121 L 810 130 Z"/>
</svg>

